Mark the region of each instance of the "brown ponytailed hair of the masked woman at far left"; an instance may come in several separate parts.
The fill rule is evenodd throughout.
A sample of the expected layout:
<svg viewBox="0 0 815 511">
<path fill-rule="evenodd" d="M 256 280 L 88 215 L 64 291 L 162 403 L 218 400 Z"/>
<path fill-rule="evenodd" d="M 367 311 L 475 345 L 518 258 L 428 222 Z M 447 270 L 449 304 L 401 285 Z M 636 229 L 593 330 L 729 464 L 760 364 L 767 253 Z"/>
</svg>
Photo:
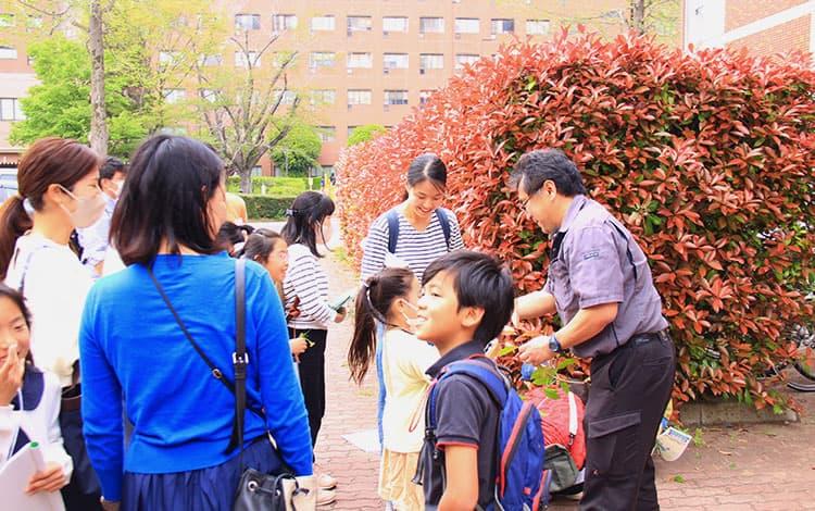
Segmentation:
<svg viewBox="0 0 815 511">
<path fill-rule="evenodd" d="M 60 185 L 71 190 L 98 171 L 100 162 L 88 146 L 64 138 L 42 138 L 25 151 L 17 170 L 20 192 L 3 204 L 0 216 L 0 279 L 9 271 L 17 238 L 34 226 L 34 212 L 45 205 L 42 196 L 48 187 Z"/>
</svg>

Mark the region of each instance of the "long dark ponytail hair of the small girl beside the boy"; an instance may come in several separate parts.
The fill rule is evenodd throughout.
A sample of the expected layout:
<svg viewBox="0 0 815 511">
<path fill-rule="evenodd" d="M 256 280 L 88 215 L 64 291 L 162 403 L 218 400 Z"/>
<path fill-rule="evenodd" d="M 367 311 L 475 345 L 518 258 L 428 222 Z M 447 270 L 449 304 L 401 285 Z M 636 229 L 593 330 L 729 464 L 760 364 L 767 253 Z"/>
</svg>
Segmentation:
<svg viewBox="0 0 815 511">
<path fill-rule="evenodd" d="M 388 313 L 397 298 L 411 290 L 415 276 L 404 267 L 386 267 L 368 277 L 356 295 L 354 334 L 348 347 L 348 367 L 351 379 L 362 384 L 371 361 L 376 354 L 376 323 L 388 325 Z"/>
</svg>

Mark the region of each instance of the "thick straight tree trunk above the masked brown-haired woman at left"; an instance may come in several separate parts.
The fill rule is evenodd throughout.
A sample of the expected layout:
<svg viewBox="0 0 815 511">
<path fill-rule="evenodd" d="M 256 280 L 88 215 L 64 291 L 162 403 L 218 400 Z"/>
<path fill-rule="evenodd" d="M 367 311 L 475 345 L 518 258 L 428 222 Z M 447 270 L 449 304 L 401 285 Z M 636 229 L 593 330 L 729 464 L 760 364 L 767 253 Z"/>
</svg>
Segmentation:
<svg viewBox="0 0 815 511">
<path fill-rule="evenodd" d="M 108 154 L 108 123 L 104 108 L 104 26 L 102 0 L 90 2 L 88 47 L 90 49 L 90 147 L 101 155 Z"/>
</svg>

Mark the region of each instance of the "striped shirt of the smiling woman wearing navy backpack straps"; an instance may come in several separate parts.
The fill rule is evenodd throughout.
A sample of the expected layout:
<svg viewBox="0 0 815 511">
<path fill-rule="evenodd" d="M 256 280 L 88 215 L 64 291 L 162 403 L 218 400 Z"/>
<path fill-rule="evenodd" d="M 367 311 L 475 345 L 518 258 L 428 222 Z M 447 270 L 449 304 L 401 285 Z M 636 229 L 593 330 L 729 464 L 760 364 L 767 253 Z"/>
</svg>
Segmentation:
<svg viewBox="0 0 815 511">
<path fill-rule="evenodd" d="M 450 219 L 450 250 L 464 248 L 459 221 L 452 211 L 442 209 L 442 214 Z M 385 257 L 388 253 L 388 213 L 379 215 L 371 225 L 367 238 L 363 241 L 362 279 L 367 279 L 385 267 Z M 448 253 L 444 232 L 441 229 L 438 216 L 434 214 L 424 230 L 408 222 L 402 211 L 399 211 L 399 238 L 394 256 L 408 263 L 408 267 L 416 275 L 419 284 L 425 269 L 436 259 Z"/>
</svg>

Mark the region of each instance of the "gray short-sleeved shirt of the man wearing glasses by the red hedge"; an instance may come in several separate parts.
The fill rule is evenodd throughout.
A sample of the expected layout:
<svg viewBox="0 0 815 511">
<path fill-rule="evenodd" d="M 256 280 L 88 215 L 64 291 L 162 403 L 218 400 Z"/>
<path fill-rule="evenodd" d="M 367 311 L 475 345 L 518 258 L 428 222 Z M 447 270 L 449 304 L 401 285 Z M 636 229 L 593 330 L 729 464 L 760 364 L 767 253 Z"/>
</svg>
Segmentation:
<svg viewBox="0 0 815 511">
<path fill-rule="evenodd" d="M 575 346 L 575 354 L 610 353 L 635 335 L 667 328 L 645 254 L 603 205 L 575 196 L 554 239 L 555 253 L 543 289 L 554 296 L 563 324 L 580 309 L 618 304 L 616 319 L 593 338 Z"/>
</svg>

